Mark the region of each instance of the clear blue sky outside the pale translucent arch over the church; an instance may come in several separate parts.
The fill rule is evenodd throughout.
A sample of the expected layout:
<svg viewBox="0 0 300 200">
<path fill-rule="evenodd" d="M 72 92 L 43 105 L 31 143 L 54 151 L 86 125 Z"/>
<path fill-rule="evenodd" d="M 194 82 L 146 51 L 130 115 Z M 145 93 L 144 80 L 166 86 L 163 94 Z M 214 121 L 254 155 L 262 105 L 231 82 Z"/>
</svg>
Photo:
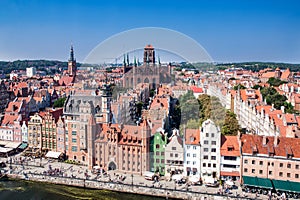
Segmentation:
<svg viewBox="0 0 300 200">
<path fill-rule="evenodd" d="M 65 61 L 73 43 L 83 61 L 106 38 L 140 27 L 182 32 L 217 62 L 300 63 L 297 0 L 1 0 L 0 60 Z"/>
</svg>

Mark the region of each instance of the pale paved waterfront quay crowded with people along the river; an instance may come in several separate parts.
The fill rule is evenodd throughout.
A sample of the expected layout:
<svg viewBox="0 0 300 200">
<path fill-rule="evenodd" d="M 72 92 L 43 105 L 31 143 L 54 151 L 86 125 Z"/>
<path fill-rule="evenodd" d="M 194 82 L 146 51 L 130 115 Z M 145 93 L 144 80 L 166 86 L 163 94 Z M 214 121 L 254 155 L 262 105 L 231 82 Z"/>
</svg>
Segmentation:
<svg viewBox="0 0 300 200">
<path fill-rule="evenodd" d="M 29 181 L 39 181 L 52 184 L 110 190 L 133 194 L 157 196 L 170 199 L 265 199 L 266 196 L 255 196 L 248 193 L 247 196 L 241 189 L 232 190 L 231 194 L 219 194 L 219 188 L 205 186 L 188 186 L 176 184 L 173 181 L 145 180 L 141 175 L 122 174 L 118 171 L 108 171 L 105 175 L 93 174 L 86 166 L 72 165 L 56 160 L 30 159 L 19 162 L 21 157 L 2 160 L 7 166 L 2 169 L 9 177 Z"/>
</svg>

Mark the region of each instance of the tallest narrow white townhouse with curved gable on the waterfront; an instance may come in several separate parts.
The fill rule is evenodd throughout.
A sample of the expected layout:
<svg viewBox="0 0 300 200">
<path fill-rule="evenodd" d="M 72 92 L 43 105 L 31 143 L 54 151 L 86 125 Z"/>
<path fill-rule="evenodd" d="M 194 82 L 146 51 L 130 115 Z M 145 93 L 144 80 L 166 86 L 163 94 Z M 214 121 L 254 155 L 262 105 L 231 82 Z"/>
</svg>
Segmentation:
<svg viewBox="0 0 300 200">
<path fill-rule="evenodd" d="M 200 145 L 201 179 L 204 183 L 213 183 L 220 177 L 221 132 L 210 119 L 202 123 Z"/>
</svg>

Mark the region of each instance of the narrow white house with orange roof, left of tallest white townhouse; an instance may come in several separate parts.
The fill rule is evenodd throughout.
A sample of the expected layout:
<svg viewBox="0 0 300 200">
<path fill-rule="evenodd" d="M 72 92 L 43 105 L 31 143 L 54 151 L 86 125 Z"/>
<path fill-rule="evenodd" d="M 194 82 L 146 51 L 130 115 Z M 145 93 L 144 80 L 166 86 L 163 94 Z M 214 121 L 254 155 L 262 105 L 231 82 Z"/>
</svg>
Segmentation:
<svg viewBox="0 0 300 200">
<path fill-rule="evenodd" d="M 186 129 L 184 140 L 184 174 L 200 180 L 200 129 Z"/>
</svg>

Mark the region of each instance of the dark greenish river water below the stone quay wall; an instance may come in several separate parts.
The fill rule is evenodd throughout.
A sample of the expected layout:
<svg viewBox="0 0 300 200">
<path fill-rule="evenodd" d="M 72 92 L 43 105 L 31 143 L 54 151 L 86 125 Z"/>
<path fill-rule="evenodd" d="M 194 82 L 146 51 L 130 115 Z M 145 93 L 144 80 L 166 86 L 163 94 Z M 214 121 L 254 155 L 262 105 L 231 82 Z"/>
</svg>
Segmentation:
<svg viewBox="0 0 300 200">
<path fill-rule="evenodd" d="M 122 199 L 158 200 L 163 198 L 135 195 L 107 190 L 84 189 L 23 180 L 0 182 L 0 200 L 69 200 L 69 199 Z"/>
</svg>

